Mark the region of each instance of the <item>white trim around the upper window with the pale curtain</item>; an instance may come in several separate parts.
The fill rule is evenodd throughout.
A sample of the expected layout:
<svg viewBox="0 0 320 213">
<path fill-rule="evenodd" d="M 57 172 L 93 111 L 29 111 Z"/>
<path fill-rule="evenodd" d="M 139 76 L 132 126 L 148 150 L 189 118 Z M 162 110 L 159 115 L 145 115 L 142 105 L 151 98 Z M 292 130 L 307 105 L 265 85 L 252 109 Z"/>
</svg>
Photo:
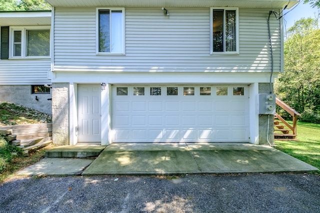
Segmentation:
<svg viewBox="0 0 320 213">
<path fill-rule="evenodd" d="M 121 10 L 122 11 L 122 38 L 123 38 L 123 52 L 99 52 L 99 10 Z M 98 7 L 96 8 L 96 55 L 125 55 L 125 9 L 123 7 Z M 111 20 L 110 20 L 111 21 Z"/>
</svg>

